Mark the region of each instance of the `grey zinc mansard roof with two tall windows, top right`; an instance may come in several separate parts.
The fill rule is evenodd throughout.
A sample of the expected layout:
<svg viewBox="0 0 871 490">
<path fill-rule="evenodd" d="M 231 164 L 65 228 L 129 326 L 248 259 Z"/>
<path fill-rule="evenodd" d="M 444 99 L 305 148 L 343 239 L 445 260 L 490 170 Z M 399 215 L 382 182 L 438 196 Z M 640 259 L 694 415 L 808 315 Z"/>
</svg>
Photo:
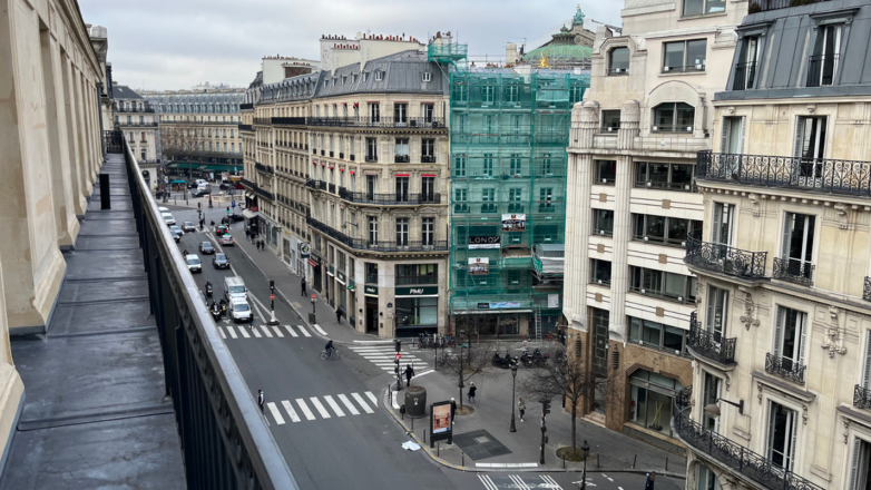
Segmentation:
<svg viewBox="0 0 871 490">
<path fill-rule="evenodd" d="M 834 80 L 830 86 L 806 87 L 810 56 L 822 31 L 816 27 L 826 21 L 843 26 Z M 735 49 L 725 91 L 716 92 L 714 100 L 871 94 L 871 0 L 831 0 L 751 13 L 738 31 L 744 38 Z M 742 42 L 747 36 L 760 39 L 756 80 L 753 89 L 733 90 L 735 66 L 742 61 Z"/>
</svg>

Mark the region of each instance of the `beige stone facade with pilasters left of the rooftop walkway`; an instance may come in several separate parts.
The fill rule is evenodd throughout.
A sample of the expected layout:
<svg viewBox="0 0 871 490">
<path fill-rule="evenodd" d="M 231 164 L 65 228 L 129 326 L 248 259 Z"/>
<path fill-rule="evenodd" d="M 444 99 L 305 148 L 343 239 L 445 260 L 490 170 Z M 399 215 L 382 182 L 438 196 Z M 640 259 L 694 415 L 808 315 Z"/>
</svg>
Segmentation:
<svg viewBox="0 0 871 490">
<path fill-rule="evenodd" d="M 9 336 L 45 333 L 102 164 L 106 48 L 75 1 L 0 4 L 0 464 L 25 391 Z"/>
</svg>

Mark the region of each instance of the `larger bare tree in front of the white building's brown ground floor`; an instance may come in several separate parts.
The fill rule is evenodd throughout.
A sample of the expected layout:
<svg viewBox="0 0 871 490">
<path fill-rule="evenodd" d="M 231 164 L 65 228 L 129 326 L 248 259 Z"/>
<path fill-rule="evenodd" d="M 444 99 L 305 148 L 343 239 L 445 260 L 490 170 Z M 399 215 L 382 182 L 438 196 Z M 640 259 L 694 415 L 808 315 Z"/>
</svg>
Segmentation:
<svg viewBox="0 0 871 490">
<path fill-rule="evenodd" d="M 579 359 L 569 360 L 566 350 L 559 347 L 546 364 L 530 370 L 520 382 L 520 392 L 530 400 L 551 400 L 566 396 L 571 403 L 571 451 L 577 452 L 578 403 L 584 396 L 595 396 L 596 390 L 607 390 L 607 379 L 587 370 Z"/>
</svg>

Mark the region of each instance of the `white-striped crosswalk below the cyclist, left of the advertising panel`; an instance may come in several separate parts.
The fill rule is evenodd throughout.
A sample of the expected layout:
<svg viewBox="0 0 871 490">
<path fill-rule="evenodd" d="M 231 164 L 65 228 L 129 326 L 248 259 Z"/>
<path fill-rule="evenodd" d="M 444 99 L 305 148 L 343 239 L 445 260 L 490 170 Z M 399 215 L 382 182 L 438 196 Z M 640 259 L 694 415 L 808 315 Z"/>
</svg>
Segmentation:
<svg viewBox="0 0 871 490">
<path fill-rule="evenodd" d="M 363 392 L 363 394 L 356 392 L 349 394 L 340 393 L 335 396 L 327 394 L 309 396 L 307 399 L 297 398 L 280 402 L 267 402 L 267 419 L 277 425 L 284 425 L 287 423 L 287 419 L 290 419 L 291 423 L 299 423 L 333 419 L 334 416 L 341 419 L 349 414 L 353 416 L 363 413 L 375 413 L 374 409 L 378 408 L 378 398 L 371 391 Z"/>
</svg>

